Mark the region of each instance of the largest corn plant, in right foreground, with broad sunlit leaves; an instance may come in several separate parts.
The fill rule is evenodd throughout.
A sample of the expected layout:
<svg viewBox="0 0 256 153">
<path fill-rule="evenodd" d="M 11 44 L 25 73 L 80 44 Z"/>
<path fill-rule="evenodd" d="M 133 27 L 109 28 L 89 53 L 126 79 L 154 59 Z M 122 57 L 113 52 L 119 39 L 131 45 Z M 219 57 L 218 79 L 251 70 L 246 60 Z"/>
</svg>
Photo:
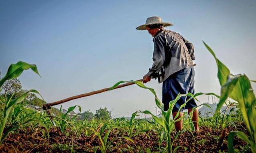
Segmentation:
<svg viewBox="0 0 256 153">
<path fill-rule="evenodd" d="M 203 43 L 205 44 L 205 42 Z M 244 123 L 250 133 L 250 138 L 248 138 L 242 131 L 231 131 L 228 135 L 228 151 L 230 153 L 234 152 L 233 140 L 234 136 L 237 135 L 250 145 L 252 153 L 256 153 L 256 98 L 250 79 L 244 74 L 230 74 L 230 70 L 217 59 L 211 48 L 207 44 L 205 46 L 215 58 L 221 85 L 221 96 L 215 114 L 219 113 L 220 108 L 228 97 L 234 99 L 238 102 Z"/>
</svg>

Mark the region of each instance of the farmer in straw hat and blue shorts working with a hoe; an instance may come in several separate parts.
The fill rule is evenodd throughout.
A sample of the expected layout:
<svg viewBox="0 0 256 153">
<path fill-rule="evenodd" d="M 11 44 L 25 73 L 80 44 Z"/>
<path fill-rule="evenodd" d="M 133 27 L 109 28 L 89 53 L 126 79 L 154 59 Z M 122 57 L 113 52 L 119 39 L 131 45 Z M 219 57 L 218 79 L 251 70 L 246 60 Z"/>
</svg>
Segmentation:
<svg viewBox="0 0 256 153">
<path fill-rule="evenodd" d="M 179 93 L 186 94 L 188 92 L 194 94 L 194 68 L 193 61 L 194 46 L 180 34 L 171 30 L 166 30 L 163 27 L 172 26 L 173 24 L 162 22 L 160 17 L 152 16 L 147 18 L 146 24 L 138 26 L 137 30 L 148 30 L 148 33 L 154 37 L 154 53 L 153 65 L 149 72 L 143 77 L 143 83 L 151 80 L 154 74 L 162 73 L 158 78 L 158 82 L 163 82 L 162 102 L 164 103 L 164 111 L 169 109 L 169 102 L 174 100 Z M 181 97 L 174 105 L 172 113 L 173 118 L 179 113 L 183 117 L 183 110 L 188 109 L 190 113 L 193 107 L 196 107 L 195 99 L 191 99 L 183 108 L 180 108 L 185 103 L 187 97 Z M 180 111 L 179 111 L 180 109 Z M 192 121 L 195 130 L 198 132 L 198 110 L 193 111 Z M 182 122 L 175 122 L 175 129 L 181 131 Z"/>
</svg>

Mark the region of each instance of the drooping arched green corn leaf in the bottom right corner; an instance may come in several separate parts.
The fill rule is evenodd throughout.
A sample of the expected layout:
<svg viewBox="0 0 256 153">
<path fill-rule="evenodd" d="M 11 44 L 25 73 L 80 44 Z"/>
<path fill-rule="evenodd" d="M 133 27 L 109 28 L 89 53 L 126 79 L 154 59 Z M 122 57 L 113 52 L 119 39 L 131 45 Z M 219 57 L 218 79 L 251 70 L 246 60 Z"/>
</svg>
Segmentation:
<svg viewBox="0 0 256 153">
<path fill-rule="evenodd" d="M 255 153 L 256 148 L 255 148 L 254 142 L 250 141 L 248 139 L 248 137 L 242 131 L 230 131 L 230 133 L 228 135 L 228 153 L 235 152 L 234 145 L 233 145 L 233 140 L 234 140 L 235 135 L 237 135 L 240 139 L 244 140 L 246 143 L 250 144 L 252 151 L 254 149 L 254 153 Z"/>
</svg>

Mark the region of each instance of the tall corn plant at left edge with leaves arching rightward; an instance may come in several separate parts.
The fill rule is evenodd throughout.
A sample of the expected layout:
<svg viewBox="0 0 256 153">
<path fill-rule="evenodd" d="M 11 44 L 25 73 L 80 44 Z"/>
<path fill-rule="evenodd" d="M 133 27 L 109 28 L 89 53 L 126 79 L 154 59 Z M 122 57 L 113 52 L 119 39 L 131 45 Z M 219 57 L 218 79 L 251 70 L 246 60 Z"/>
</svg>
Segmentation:
<svg viewBox="0 0 256 153">
<path fill-rule="evenodd" d="M 2 87 L 2 85 L 4 84 L 5 81 L 7 81 L 8 79 L 13 79 L 13 78 L 17 78 L 18 76 L 20 76 L 20 74 L 22 74 L 22 72 L 24 70 L 28 70 L 28 69 L 33 70 L 36 74 L 39 75 L 38 71 L 37 71 L 37 66 L 33 65 L 33 64 L 27 64 L 25 62 L 18 62 L 16 64 L 11 64 L 10 67 L 8 68 L 8 71 L 6 73 L 6 75 L 0 80 L 0 88 Z M 39 75 L 40 76 L 40 75 Z M 24 94 L 20 95 L 19 97 L 16 97 L 16 99 L 12 99 L 13 95 L 11 95 L 11 97 L 9 99 L 7 99 L 4 103 L 4 113 L 3 113 L 3 118 L 0 121 L 0 144 L 2 143 L 2 141 L 4 140 L 4 138 L 13 130 L 18 129 L 18 127 L 20 127 L 21 125 L 24 125 L 30 121 L 33 121 L 33 119 L 27 119 L 25 121 L 22 121 L 22 123 L 20 124 L 16 124 L 14 127 L 10 127 L 9 129 L 6 130 L 5 133 L 4 132 L 4 128 L 7 122 L 7 119 L 10 115 L 11 110 L 13 109 L 13 107 L 15 105 L 17 105 L 18 103 L 21 103 L 26 95 L 28 93 L 37 93 L 39 94 L 38 91 L 31 89 L 26 91 Z M 39 94 L 40 95 L 40 94 Z"/>
</svg>

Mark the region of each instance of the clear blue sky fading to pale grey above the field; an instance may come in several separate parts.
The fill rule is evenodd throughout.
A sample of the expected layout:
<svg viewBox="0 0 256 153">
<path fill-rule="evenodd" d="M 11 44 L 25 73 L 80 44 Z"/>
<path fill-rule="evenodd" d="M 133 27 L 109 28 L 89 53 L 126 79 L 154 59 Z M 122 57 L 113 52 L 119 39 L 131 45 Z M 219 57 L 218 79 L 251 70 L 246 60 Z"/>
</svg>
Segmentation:
<svg viewBox="0 0 256 153">
<path fill-rule="evenodd" d="M 232 74 L 255 80 L 255 7 L 255 0 L 1 0 L 0 71 L 3 76 L 18 61 L 36 64 L 41 77 L 28 70 L 19 79 L 24 89 L 38 90 L 47 103 L 121 80 L 142 79 L 152 66 L 153 42 L 147 31 L 136 27 L 150 16 L 160 16 L 173 23 L 166 29 L 195 47 L 195 92 L 219 94 L 217 66 L 202 41 Z M 162 83 L 152 79 L 145 85 L 161 99 Z M 252 87 L 256 89 L 256 83 Z M 208 102 L 205 95 L 198 99 L 198 105 Z M 106 107 L 114 117 L 137 110 L 155 112 L 156 107 L 154 95 L 137 85 L 76 99 L 63 107 L 73 105 L 93 113 Z"/>
</svg>

